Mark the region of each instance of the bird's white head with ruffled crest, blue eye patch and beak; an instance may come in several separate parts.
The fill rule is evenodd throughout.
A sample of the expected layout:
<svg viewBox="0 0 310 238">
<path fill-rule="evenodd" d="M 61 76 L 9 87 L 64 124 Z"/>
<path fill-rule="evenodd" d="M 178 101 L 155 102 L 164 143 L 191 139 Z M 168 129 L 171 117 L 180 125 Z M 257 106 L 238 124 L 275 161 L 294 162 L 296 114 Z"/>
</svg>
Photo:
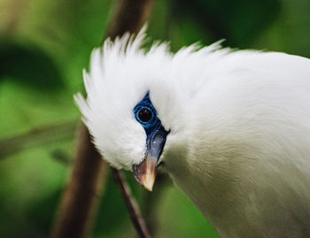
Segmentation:
<svg viewBox="0 0 310 238">
<path fill-rule="evenodd" d="M 144 37 L 143 31 L 135 39 L 124 35 L 94 50 L 89 73 L 83 73 L 87 98 L 78 94 L 75 101 L 105 160 L 132 170 L 151 190 L 182 110 L 174 84 L 167 80 L 173 74 L 167 44 L 145 51 Z"/>
</svg>

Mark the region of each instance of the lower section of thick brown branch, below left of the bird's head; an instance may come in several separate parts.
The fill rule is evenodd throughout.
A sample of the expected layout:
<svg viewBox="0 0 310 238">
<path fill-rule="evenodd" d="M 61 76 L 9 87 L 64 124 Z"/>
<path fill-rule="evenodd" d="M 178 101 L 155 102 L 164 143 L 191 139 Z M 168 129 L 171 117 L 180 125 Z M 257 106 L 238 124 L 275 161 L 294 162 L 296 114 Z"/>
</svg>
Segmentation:
<svg viewBox="0 0 310 238">
<path fill-rule="evenodd" d="M 58 209 L 51 237 L 88 237 L 102 190 L 107 165 L 81 125 L 70 182 Z"/>
</svg>

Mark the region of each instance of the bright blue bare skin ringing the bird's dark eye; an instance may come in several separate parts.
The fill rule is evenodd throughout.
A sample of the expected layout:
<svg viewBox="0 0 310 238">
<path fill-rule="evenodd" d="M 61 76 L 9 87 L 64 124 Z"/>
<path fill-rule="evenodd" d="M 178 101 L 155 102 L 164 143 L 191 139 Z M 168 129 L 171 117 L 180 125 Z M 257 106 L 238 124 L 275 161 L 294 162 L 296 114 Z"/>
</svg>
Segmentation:
<svg viewBox="0 0 310 238">
<path fill-rule="evenodd" d="M 138 118 L 138 113 L 142 108 L 147 108 L 152 112 L 152 117 L 148 122 L 143 122 Z M 143 126 L 147 138 L 150 138 L 151 135 L 154 134 L 157 129 L 159 129 L 159 127 L 162 127 L 161 122 L 157 117 L 157 111 L 155 110 L 153 104 L 151 104 L 149 92 L 146 93 L 139 104 L 136 104 L 134 113 L 136 120 Z"/>
</svg>

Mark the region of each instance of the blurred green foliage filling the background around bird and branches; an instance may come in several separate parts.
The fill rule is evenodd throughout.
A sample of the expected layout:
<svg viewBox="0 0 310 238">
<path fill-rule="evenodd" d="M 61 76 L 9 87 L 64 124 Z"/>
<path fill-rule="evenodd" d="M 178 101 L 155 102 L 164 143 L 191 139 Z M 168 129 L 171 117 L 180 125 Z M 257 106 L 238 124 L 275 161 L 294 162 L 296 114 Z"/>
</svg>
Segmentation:
<svg viewBox="0 0 310 238">
<path fill-rule="evenodd" d="M 73 94 L 82 90 L 81 69 L 102 41 L 114 4 L 0 0 L 0 142 L 79 118 Z M 309 10 L 308 0 L 159 0 L 148 32 L 151 39 L 171 41 L 172 50 L 225 38 L 231 47 L 310 57 Z M 0 157 L 0 237 L 48 236 L 70 168 L 64 162 L 73 153 L 74 131 Z M 144 215 L 157 219 L 151 223 L 156 237 L 218 237 L 177 188 L 157 187 L 154 199 L 130 173 L 128 180 Z M 135 235 L 109 178 L 93 237 Z"/>
</svg>

